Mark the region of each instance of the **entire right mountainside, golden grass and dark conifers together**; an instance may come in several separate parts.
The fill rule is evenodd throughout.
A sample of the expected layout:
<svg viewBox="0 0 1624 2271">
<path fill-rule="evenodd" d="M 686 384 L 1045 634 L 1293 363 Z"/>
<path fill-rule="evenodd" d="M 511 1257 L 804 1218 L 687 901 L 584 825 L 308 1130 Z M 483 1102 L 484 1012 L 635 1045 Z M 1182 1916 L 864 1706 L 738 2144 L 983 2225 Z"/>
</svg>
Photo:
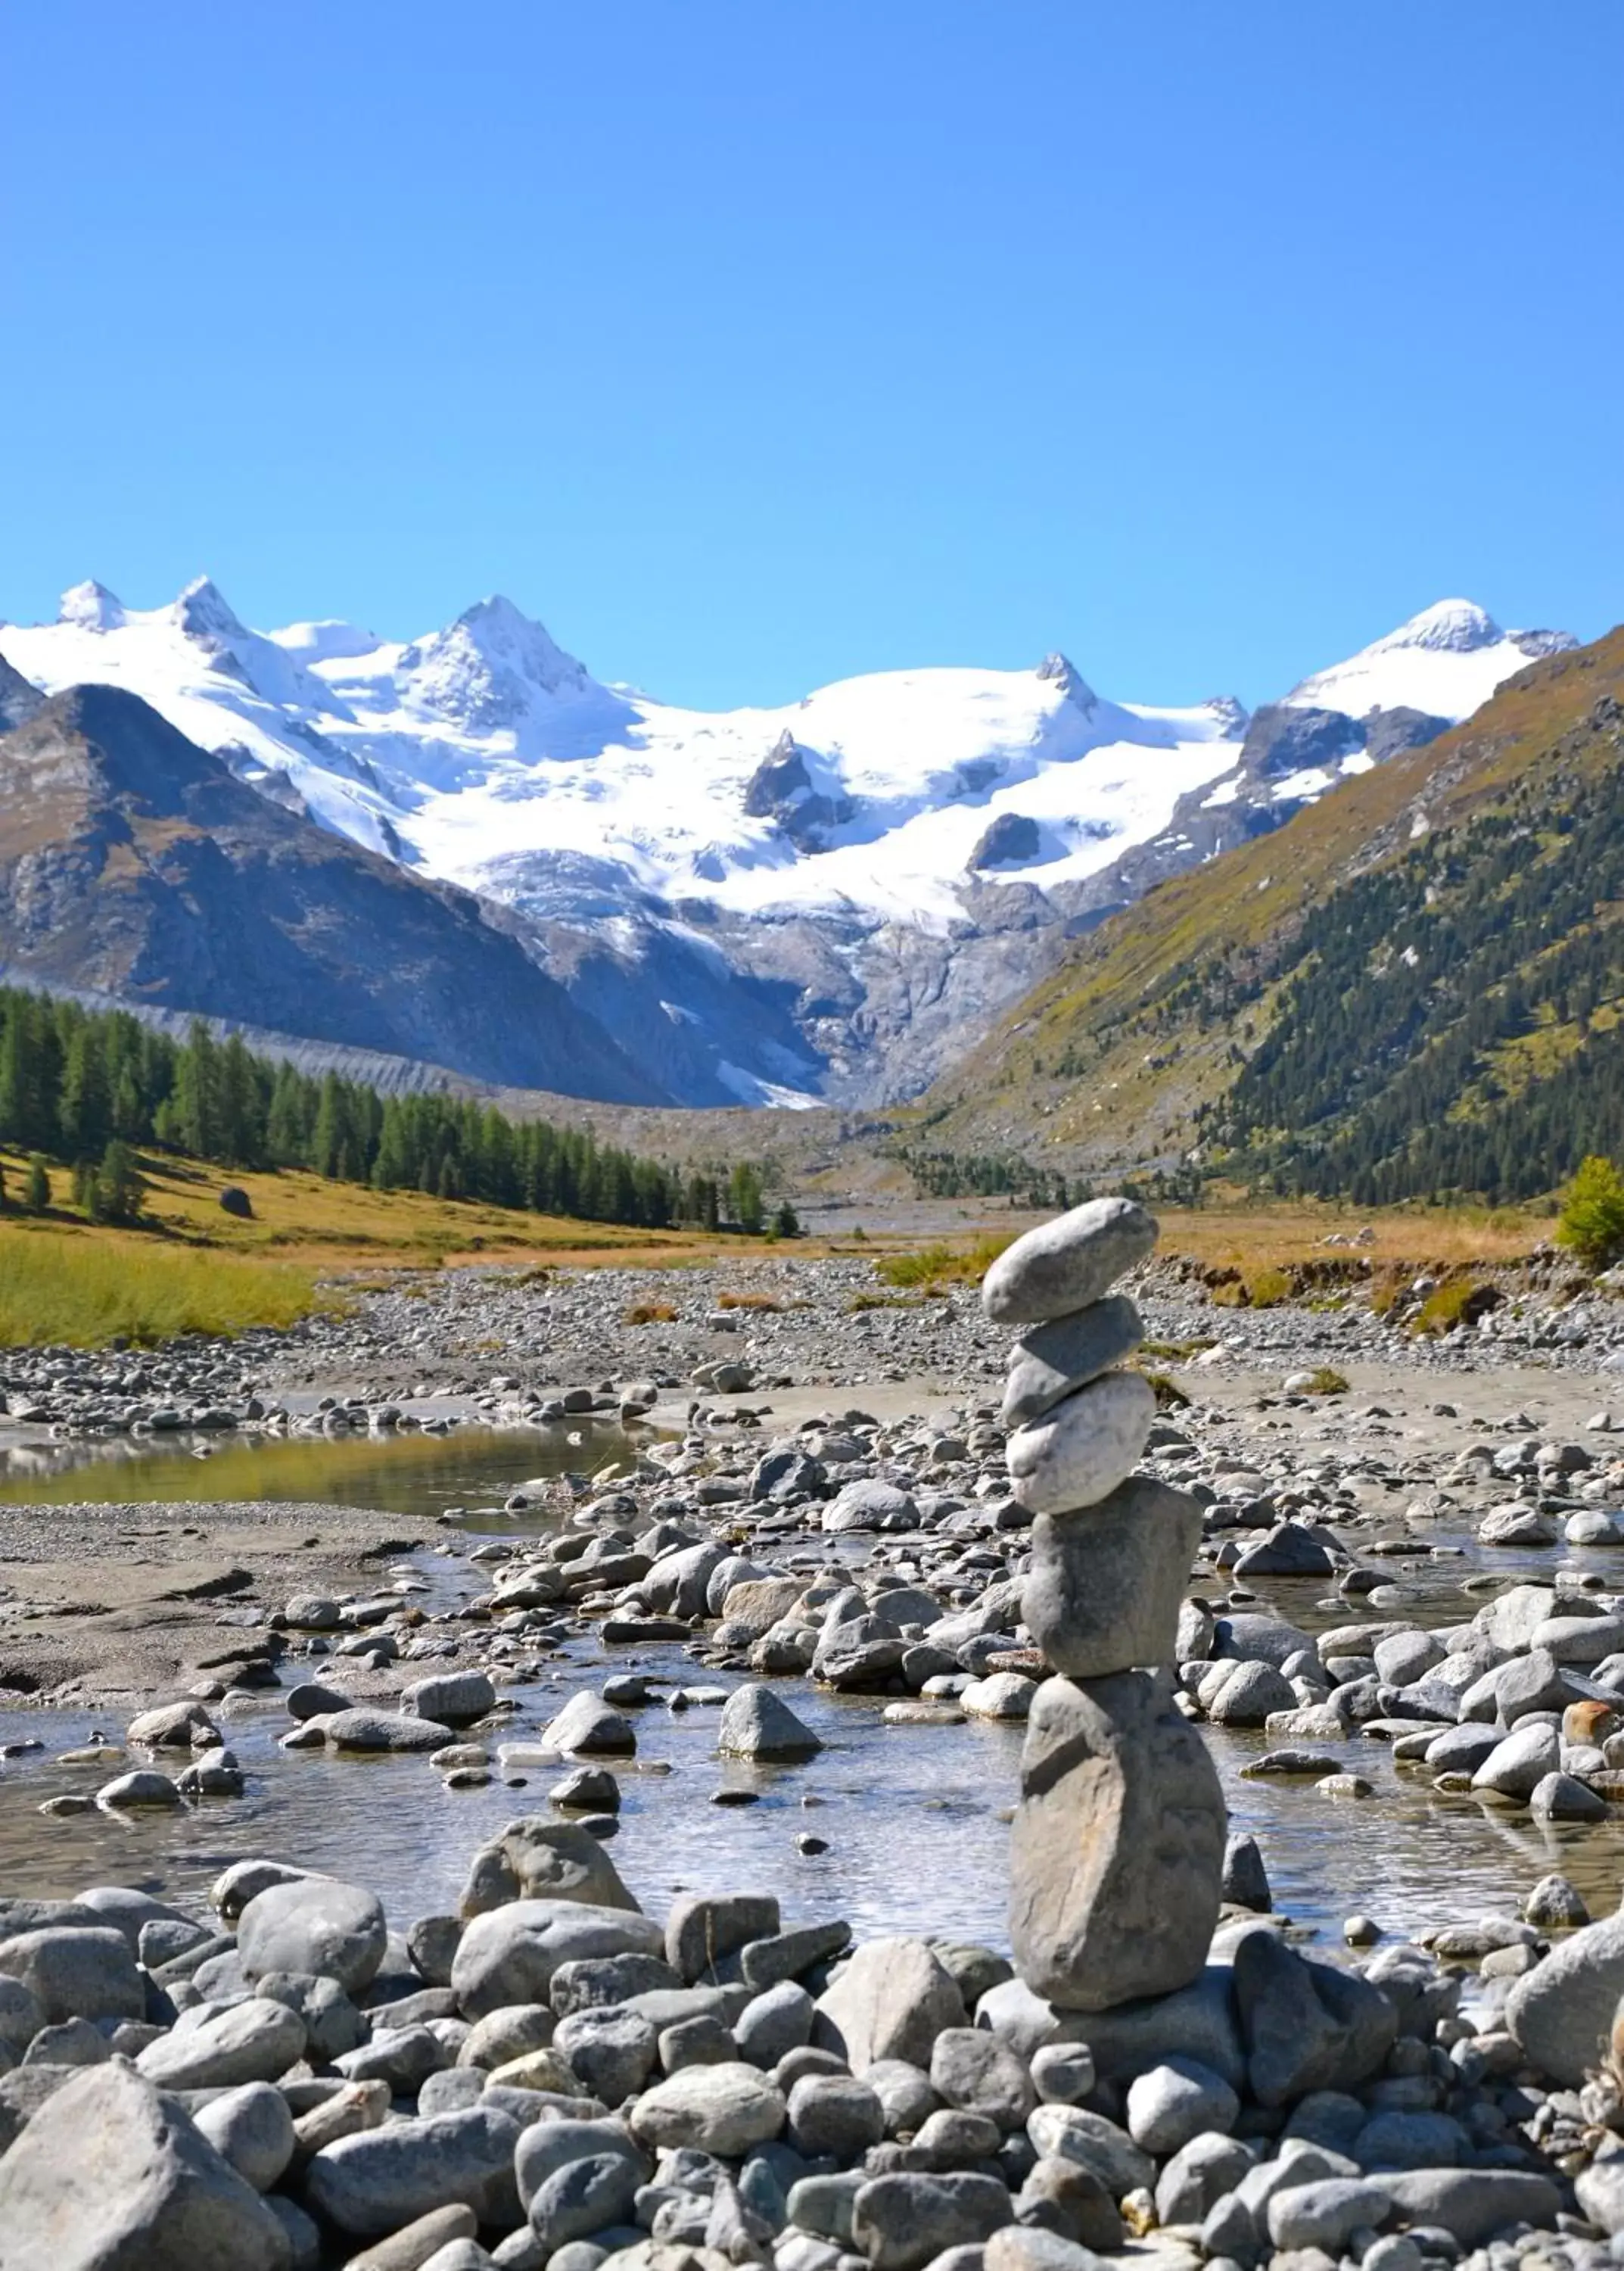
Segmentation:
<svg viewBox="0 0 1624 2271">
<path fill-rule="evenodd" d="M 1624 629 L 1079 940 L 909 1154 L 1549 1188 L 1624 1147 L 1622 772 Z"/>
</svg>

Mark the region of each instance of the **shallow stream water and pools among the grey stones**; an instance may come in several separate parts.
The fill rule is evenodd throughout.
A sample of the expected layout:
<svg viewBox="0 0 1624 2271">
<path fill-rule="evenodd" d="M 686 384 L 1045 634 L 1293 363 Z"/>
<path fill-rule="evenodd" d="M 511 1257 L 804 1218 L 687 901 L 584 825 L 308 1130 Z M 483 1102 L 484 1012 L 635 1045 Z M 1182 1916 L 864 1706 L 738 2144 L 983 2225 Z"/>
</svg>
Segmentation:
<svg viewBox="0 0 1624 2271">
<path fill-rule="evenodd" d="M 288 1497 L 388 1512 L 461 1506 L 466 1515 L 447 1537 L 511 1535 L 522 1524 L 495 1510 L 504 1492 L 529 1476 L 600 1465 L 613 1449 L 609 1433 L 595 1435 L 586 1451 L 561 1435 L 547 1447 L 531 1433 L 238 1447 L 207 1463 L 175 1449 L 143 1463 L 79 1467 L 70 1488 L 59 1476 L 36 1492 L 11 1476 L 5 1497 Z M 288 1458 L 295 1465 L 284 1469 Z M 236 1488 L 223 1488 L 227 1483 Z M 863 1542 L 849 1542 L 854 1560 L 863 1551 Z M 1624 1585 L 1624 1556 L 1567 1549 L 1565 1558 L 1617 1569 Z M 1460 1578 L 1490 1569 L 1506 1578 L 1538 1576 L 1554 1560 L 1554 1553 L 1470 1547 L 1460 1560 L 1392 1565 L 1392 1576 L 1415 1587 L 1408 1612 L 1445 1621 L 1481 1606 L 1481 1594 L 1458 1590 Z M 432 1544 L 397 1565 L 395 1576 L 404 1574 L 429 1581 L 427 1606 L 484 1585 L 461 1558 L 436 1553 Z M 1311 1628 L 1404 1612 L 1397 1603 L 1331 1601 L 1322 1581 L 1261 1592 Z M 418 1669 L 434 1667 L 413 1665 L 413 1676 Z M 545 1678 L 513 1690 L 520 1710 L 502 1740 L 534 1737 L 563 1694 L 595 1685 L 611 1669 L 643 1669 L 672 1690 L 736 1685 L 736 1676 L 713 1681 L 675 1644 L 604 1651 L 595 1637 L 581 1637 L 552 1660 Z M 320 1676 L 320 1660 L 311 1671 Z M 843 1914 L 859 1933 L 929 1930 L 1006 1944 L 1008 1830 L 999 1817 L 1015 1796 L 1020 1728 L 986 1721 L 888 1726 L 877 1696 L 834 1696 L 804 1681 L 786 1683 L 786 1694 L 827 1744 L 802 1767 L 722 1765 L 713 1706 L 670 1710 L 654 1703 L 638 1715 L 638 1758 L 611 1762 L 622 1787 L 620 1835 L 611 1851 L 638 1899 L 659 1910 L 679 1887 L 763 1889 L 779 1894 L 788 1919 Z M 116 1771 L 61 1767 L 55 1753 L 82 1744 L 93 1728 L 116 1742 L 120 1721 L 84 1710 L 0 1712 L 0 1742 L 34 1737 L 45 1744 L 43 1753 L 0 1767 L 0 1889 L 66 1894 L 118 1880 L 195 1899 L 229 1860 L 268 1853 L 357 1876 L 379 1889 L 395 1921 L 409 1921 L 454 1908 L 472 1849 L 513 1815 L 545 1810 L 545 1792 L 561 1774 L 536 1767 L 527 1787 L 497 1780 L 486 1790 L 447 1792 L 422 1758 L 329 1760 L 279 1751 L 277 1735 L 286 1726 L 275 1694 L 229 1717 L 227 1740 L 250 1776 L 245 1799 L 207 1801 L 177 1815 L 41 1819 L 41 1799 L 95 1790 Z M 1617 1905 L 1624 1817 L 1617 1826 L 1540 1828 L 1526 1812 L 1440 1796 L 1424 1767 L 1399 1767 L 1386 1744 L 1365 1737 L 1313 1746 L 1376 1785 L 1374 1799 L 1331 1801 L 1306 1780 L 1242 1780 L 1240 1767 L 1267 1749 L 1263 1735 L 1224 1728 L 1206 1735 L 1233 1826 L 1256 1830 L 1263 1844 L 1276 1908 L 1331 1937 L 1356 1910 L 1388 1930 L 1504 1912 L 1547 1869 L 1569 1874 L 1594 1912 Z M 718 1790 L 750 1790 L 756 1803 L 713 1805 Z M 797 1851 L 806 1833 L 827 1840 L 829 1851 Z"/>
</svg>

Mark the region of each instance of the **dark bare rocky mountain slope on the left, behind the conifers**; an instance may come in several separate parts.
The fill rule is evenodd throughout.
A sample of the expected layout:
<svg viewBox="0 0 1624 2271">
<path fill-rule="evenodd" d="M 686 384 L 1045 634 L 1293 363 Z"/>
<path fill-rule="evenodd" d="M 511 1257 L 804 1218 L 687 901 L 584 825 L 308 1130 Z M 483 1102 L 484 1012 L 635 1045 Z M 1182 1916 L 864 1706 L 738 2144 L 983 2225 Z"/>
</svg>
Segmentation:
<svg viewBox="0 0 1624 2271">
<path fill-rule="evenodd" d="M 0 736 L 0 958 L 472 1079 L 668 1101 L 479 899 L 284 811 L 111 686 Z"/>
</svg>

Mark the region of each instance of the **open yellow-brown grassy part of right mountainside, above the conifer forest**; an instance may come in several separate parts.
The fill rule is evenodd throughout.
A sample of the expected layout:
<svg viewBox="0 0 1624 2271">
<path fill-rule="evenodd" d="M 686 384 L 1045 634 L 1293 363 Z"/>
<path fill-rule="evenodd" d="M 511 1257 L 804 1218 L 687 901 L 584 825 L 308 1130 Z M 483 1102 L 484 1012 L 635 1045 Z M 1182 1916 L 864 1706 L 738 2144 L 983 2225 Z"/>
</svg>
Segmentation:
<svg viewBox="0 0 1624 2271">
<path fill-rule="evenodd" d="M 1227 1099 L 1242 1090 L 1247 1065 L 1270 1049 L 1288 1013 L 1297 1017 L 1299 1061 L 1315 1058 L 1304 1026 L 1317 1020 L 1329 1029 L 1345 1015 L 1342 1081 L 1351 1092 L 1363 1076 L 1361 1049 L 1379 1026 L 1356 997 L 1379 974 L 1345 974 L 1345 995 L 1326 997 L 1322 988 L 1308 995 L 1308 1008 L 1292 1011 L 1286 999 L 1292 986 L 1301 995 L 1315 956 L 1326 958 L 1326 924 L 1342 920 L 1338 895 L 1349 895 L 1345 920 L 1354 922 L 1361 888 L 1404 870 L 1433 843 L 1445 877 L 1456 854 L 1479 861 L 1465 831 L 1479 815 L 1499 829 L 1499 815 L 1515 815 L 1520 799 L 1533 802 L 1545 831 L 1560 838 L 1579 788 L 1624 768 L 1622 729 L 1624 629 L 1535 659 L 1465 724 L 1338 783 L 1279 833 L 1156 883 L 1074 940 L 1065 963 L 922 1099 L 909 1140 L 965 1156 L 1020 1154 L 1070 1172 L 1174 1172 L 1192 1151 L 1211 1165 L 1213 1140 L 1245 1133 L 1227 1115 Z M 1438 895 L 1442 886 L 1422 877 L 1408 920 L 1426 917 L 1426 890 Z M 1513 945 L 1522 949 L 1522 940 Z M 1526 952 L 1542 952 L 1540 940 L 1531 936 Z M 1438 979 L 1445 995 L 1447 963 Z M 1342 1013 L 1336 1002 L 1345 1002 Z M 1254 1113 L 1249 1133 L 1288 1131 L 1270 1131 Z M 1267 1140 L 1263 1154 L 1270 1158 Z M 1270 1163 L 1281 1156 L 1276 1145 Z M 1256 1158 L 1240 1167 L 1254 1172 Z M 1383 1188 L 1397 1190 L 1399 1181 L 1390 1172 Z"/>
</svg>

